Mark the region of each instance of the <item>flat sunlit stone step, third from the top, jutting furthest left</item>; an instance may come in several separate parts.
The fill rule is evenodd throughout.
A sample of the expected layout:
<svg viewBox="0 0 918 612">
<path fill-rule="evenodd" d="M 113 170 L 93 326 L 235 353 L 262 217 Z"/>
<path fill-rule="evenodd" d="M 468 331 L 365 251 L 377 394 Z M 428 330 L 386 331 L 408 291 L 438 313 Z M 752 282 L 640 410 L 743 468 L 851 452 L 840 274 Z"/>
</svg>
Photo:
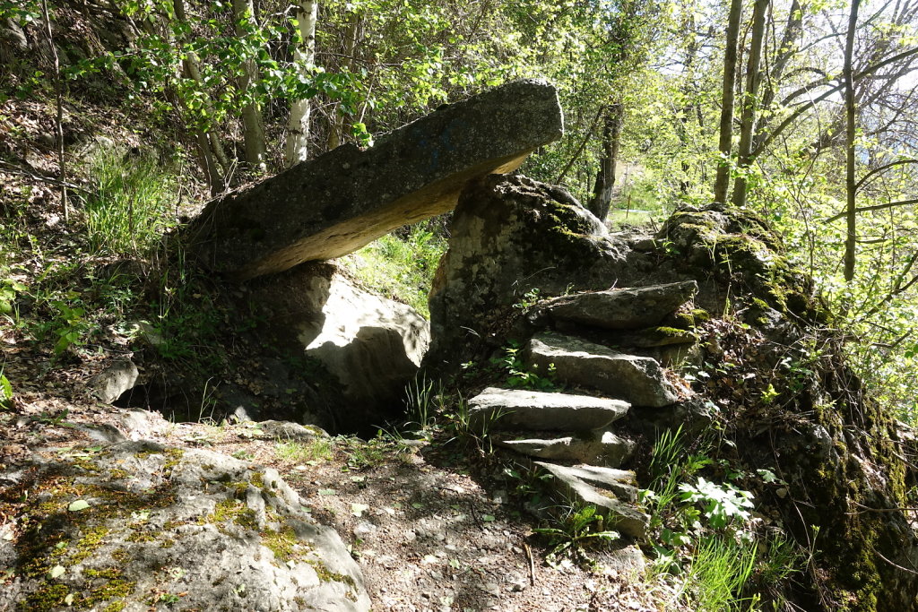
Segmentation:
<svg viewBox="0 0 918 612">
<path fill-rule="evenodd" d="M 468 403 L 469 418 L 492 429 L 589 431 L 624 417 L 631 406 L 617 399 L 591 395 L 543 393 L 488 387 Z M 499 415 L 499 417 L 498 417 Z"/>
</svg>

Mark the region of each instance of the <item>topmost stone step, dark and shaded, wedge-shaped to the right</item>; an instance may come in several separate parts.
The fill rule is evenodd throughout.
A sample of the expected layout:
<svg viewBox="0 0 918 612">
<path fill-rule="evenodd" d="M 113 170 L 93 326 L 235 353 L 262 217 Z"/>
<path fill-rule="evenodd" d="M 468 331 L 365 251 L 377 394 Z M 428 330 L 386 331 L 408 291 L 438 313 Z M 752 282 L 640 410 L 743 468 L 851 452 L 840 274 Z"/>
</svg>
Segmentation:
<svg viewBox="0 0 918 612">
<path fill-rule="evenodd" d="M 539 307 L 535 318 L 601 329 L 655 327 L 698 293 L 696 281 L 563 295 Z"/>
</svg>

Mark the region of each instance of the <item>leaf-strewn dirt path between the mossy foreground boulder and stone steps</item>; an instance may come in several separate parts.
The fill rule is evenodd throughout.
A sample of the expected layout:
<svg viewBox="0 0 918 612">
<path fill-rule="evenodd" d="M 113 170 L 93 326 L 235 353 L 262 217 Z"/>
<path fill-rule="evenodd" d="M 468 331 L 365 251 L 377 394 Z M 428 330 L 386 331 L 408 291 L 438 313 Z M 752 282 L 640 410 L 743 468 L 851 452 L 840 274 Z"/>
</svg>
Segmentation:
<svg viewBox="0 0 918 612">
<path fill-rule="evenodd" d="M 311 516 L 341 535 L 377 610 L 652 610 L 666 598 L 639 580 L 644 556 L 634 547 L 596 551 L 592 566 L 547 563 L 546 542 L 514 495 L 518 483 L 499 480 L 499 462 L 478 451 L 436 437 L 298 439 L 301 428 L 271 423 L 173 423 L 87 400 L 85 372 L 36 375 L 34 363 L 4 351 L 17 394 L 0 412 L 0 472 L 122 438 L 273 467 Z M 20 527 L 0 517 L 5 539 Z M 14 573 L 6 567 L 0 579 Z"/>
</svg>

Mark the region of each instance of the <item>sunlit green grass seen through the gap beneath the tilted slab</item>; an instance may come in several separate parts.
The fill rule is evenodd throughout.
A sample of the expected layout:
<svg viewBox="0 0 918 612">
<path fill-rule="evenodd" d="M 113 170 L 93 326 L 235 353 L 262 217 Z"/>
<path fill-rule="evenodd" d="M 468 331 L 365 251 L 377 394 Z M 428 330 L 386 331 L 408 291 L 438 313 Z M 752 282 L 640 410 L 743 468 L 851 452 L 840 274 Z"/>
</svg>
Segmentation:
<svg viewBox="0 0 918 612">
<path fill-rule="evenodd" d="M 445 250 L 446 240 L 420 224 L 404 238 L 388 234 L 365 246 L 345 265 L 366 287 L 430 317 L 427 295 Z"/>
</svg>

